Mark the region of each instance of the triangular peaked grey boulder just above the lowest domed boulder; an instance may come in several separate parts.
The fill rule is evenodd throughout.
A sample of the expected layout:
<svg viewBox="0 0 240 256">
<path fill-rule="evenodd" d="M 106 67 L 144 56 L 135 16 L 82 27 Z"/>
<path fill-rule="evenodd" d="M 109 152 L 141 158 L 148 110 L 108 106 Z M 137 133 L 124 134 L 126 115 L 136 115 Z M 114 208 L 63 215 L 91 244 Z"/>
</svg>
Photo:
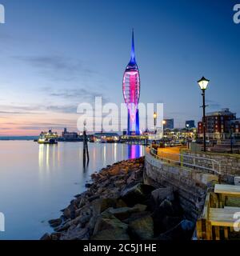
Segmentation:
<svg viewBox="0 0 240 256">
<path fill-rule="evenodd" d="M 127 225 L 120 222 L 113 214 L 108 211 L 103 212 L 98 218 L 94 228 L 94 234 L 98 234 L 102 230 L 126 230 Z"/>
</svg>

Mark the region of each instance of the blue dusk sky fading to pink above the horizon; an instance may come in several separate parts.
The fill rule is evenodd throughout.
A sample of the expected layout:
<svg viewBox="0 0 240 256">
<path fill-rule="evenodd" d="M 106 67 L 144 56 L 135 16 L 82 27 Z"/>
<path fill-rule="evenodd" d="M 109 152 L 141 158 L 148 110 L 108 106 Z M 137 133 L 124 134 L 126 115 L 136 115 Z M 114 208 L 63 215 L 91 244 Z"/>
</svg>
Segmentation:
<svg viewBox="0 0 240 256">
<path fill-rule="evenodd" d="M 131 30 L 140 102 L 163 102 L 175 126 L 207 111 L 240 117 L 240 24 L 230 0 L 0 0 L 0 136 L 77 130 L 77 107 L 102 96 L 123 102 Z"/>
</svg>

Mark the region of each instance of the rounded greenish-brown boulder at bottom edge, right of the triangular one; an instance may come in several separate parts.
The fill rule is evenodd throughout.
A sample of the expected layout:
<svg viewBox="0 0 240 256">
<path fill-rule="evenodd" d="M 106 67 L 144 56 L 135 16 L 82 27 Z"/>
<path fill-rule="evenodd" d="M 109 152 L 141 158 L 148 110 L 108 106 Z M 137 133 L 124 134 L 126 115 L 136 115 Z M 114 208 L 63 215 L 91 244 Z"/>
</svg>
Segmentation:
<svg viewBox="0 0 240 256">
<path fill-rule="evenodd" d="M 130 222 L 129 229 L 137 239 L 150 240 L 154 238 L 154 221 L 150 214 Z"/>
</svg>

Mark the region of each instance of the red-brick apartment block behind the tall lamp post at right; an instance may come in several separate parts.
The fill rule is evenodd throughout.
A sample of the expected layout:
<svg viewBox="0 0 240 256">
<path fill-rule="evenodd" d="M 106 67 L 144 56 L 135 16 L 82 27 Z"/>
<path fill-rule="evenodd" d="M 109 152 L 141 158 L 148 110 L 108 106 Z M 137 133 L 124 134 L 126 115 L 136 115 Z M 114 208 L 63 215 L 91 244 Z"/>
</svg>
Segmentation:
<svg viewBox="0 0 240 256">
<path fill-rule="evenodd" d="M 231 122 L 236 120 L 236 114 L 228 108 L 206 114 L 206 137 L 224 139 L 230 134 Z M 202 122 L 198 122 L 198 137 L 203 136 Z"/>
</svg>

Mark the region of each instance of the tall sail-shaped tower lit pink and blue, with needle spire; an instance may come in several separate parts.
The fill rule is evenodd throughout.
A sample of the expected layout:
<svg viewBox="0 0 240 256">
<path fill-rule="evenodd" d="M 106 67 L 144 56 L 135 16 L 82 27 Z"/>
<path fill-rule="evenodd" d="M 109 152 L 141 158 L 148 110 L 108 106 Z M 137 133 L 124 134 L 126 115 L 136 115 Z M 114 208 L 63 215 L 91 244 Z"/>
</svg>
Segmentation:
<svg viewBox="0 0 240 256">
<path fill-rule="evenodd" d="M 140 97 L 140 75 L 135 58 L 134 30 L 130 62 L 126 66 L 122 82 L 123 97 L 128 111 L 127 134 L 139 135 L 138 102 Z"/>
</svg>

